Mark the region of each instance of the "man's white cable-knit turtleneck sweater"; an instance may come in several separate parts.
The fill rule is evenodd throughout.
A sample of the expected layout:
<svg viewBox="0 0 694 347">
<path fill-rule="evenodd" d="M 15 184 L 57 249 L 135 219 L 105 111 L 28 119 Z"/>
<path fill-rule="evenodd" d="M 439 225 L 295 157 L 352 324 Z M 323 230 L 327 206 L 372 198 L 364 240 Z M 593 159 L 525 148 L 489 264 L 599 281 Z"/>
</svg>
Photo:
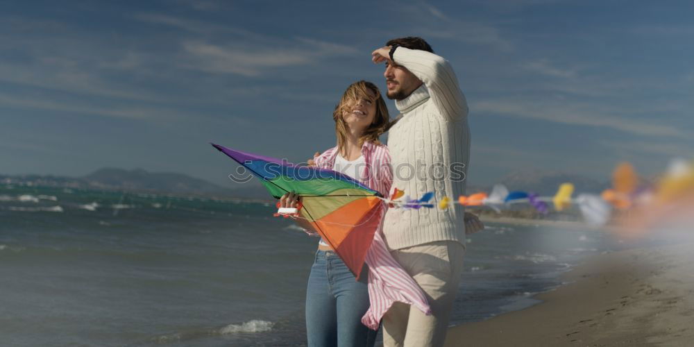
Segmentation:
<svg viewBox="0 0 694 347">
<path fill-rule="evenodd" d="M 455 73 L 448 61 L 427 51 L 398 47 L 393 60 L 423 81 L 406 99 L 396 101 L 401 115 L 388 134 L 393 187 L 413 199 L 435 192 L 436 204 L 443 196 L 457 199 L 465 194 L 470 129 Z M 443 240 L 465 246 L 463 215 L 457 204 L 446 210 L 391 208 L 383 234 L 391 250 Z"/>
</svg>

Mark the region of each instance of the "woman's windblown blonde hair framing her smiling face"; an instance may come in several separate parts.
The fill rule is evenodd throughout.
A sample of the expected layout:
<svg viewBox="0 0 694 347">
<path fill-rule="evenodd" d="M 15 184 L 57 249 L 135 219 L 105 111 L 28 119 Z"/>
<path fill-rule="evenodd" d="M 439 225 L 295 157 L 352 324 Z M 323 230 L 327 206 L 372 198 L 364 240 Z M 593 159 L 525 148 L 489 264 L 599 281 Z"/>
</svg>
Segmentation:
<svg viewBox="0 0 694 347">
<path fill-rule="evenodd" d="M 376 105 L 376 114 L 373 117 L 373 123 L 371 123 L 371 125 L 364 130 L 362 136 L 359 137 L 359 146 L 366 141 L 380 144 L 378 137 L 389 128 L 390 116 L 388 114 L 388 108 L 378 87 L 364 80 L 352 83 L 347 87 L 344 94 L 342 94 L 340 103 L 335 106 L 335 111 L 332 112 L 332 119 L 335 120 L 335 135 L 337 135 L 337 150 L 343 155 L 346 155 L 343 151 L 346 151 L 347 148 L 347 133 L 349 131 L 349 127 L 342 117 L 343 112 L 351 112 L 350 101 L 356 101 L 359 98 L 371 99 L 369 90 L 375 94 L 373 102 Z"/>
</svg>

